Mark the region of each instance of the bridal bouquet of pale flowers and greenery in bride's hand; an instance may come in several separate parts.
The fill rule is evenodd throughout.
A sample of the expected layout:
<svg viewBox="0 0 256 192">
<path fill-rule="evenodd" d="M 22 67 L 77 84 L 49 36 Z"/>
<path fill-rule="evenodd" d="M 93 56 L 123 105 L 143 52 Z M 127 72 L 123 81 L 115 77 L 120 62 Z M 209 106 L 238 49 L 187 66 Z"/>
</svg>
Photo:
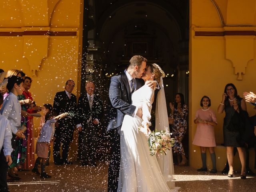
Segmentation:
<svg viewBox="0 0 256 192">
<path fill-rule="evenodd" d="M 171 150 L 173 145 L 174 138 L 171 138 L 166 130 L 156 130 L 148 135 L 150 156 L 163 153 L 166 155 L 166 150 Z"/>
</svg>

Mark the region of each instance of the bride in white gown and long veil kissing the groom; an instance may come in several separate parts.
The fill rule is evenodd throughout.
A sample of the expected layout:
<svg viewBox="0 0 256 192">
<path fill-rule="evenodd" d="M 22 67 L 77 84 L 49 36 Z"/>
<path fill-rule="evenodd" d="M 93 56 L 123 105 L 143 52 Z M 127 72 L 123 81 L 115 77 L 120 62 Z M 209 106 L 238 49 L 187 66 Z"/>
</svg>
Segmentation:
<svg viewBox="0 0 256 192">
<path fill-rule="evenodd" d="M 145 76 L 142 77 L 145 82 L 156 80 L 161 87 L 156 103 L 157 130 L 168 128 L 162 77 L 164 77 L 164 72 L 157 64 L 149 64 Z M 155 87 L 150 88 L 144 85 L 132 94 L 132 105 L 142 108 L 142 119 L 138 116 L 124 116 L 120 133 L 121 162 L 118 192 L 170 192 L 176 190 L 172 179 L 174 174 L 172 152 L 168 151 L 166 156 L 160 155 L 158 159 L 156 156 L 150 156 L 148 139 L 143 132 L 138 130 L 138 127 L 143 126 L 146 134 L 150 131 L 148 127 L 151 125 L 150 112 L 154 100 L 154 90 Z"/>
</svg>

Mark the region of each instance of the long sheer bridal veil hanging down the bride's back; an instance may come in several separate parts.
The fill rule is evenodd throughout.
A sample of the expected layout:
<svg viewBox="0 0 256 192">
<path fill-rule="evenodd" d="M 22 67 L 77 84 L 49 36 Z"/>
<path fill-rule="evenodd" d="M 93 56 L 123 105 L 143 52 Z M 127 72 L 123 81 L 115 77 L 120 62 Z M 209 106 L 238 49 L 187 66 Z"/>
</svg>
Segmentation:
<svg viewBox="0 0 256 192">
<path fill-rule="evenodd" d="M 170 132 L 162 77 L 160 78 L 160 88 L 156 98 L 156 129 Z M 167 150 L 166 155 L 158 155 L 156 157 L 168 187 L 170 189 L 175 188 L 172 151 Z"/>
</svg>

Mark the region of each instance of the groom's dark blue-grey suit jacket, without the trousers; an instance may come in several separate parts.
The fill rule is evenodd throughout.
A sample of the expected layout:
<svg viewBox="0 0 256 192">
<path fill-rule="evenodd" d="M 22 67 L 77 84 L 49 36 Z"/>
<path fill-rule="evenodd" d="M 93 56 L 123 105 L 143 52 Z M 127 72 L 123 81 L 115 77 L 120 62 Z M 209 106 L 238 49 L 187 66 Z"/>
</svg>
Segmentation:
<svg viewBox="0 0 256 192">
<path fill-rule="evenodd" d="M 145 83 L 143 79 L 136 78 L 136 90 L 141 88 L 144 84 Z M 111 78 L 109 98 L 114 109 L 108 124 L 108 131 L 111 129 L 119 128 L 122 125 L 124 115 L 128 114 L 131 116 L 136 108 L 131 104 L 132 98 L 130 86 L 127 76 L 124 72 Z"/>
</svg>

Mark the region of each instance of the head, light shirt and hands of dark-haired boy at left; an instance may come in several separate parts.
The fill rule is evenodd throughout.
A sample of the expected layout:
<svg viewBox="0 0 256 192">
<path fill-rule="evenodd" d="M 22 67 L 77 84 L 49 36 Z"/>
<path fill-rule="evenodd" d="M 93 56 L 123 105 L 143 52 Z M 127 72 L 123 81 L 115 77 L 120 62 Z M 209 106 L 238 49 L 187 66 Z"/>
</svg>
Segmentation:
<svg viewBox="0 0 256 192">
<path fill-rule="evenodd" d="M 21 106 L 18 101 L 18 95 L 21 95 L 24 90 L 23 82 L 24 80 L 21 77 L 15 75 L 8 77 L 6 88 L 10 91 L 10 94 L 5 98 L 0 111 L 1 115 L 10 121 L 12 134 L 15 134 L 19 138 L 25 138 L 20 130 Z"/>
</svg>

